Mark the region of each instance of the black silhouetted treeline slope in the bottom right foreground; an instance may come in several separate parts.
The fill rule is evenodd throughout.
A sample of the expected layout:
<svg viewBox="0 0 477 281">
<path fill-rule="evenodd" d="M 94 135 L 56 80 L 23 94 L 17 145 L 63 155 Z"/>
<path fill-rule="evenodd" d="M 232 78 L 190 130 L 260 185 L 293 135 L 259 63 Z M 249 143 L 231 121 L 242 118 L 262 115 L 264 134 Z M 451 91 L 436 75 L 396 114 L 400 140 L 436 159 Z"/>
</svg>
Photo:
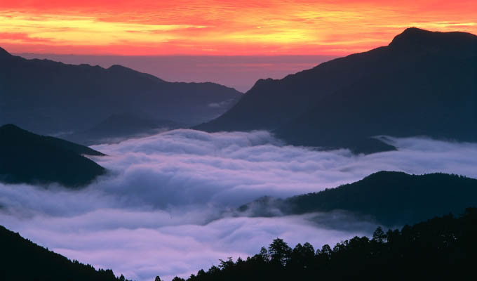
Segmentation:
<svg viewBox="0 0 477 281">
<path fill-rule="evenodd" d="M 315 251 L 277 238 L 246 260 L 220 260 L 187 281 L 213 280 L 471 280 L 476 275 L 477 208 L 459 217 L 433 218 L 401 230 L 377 228 Z M 184 281 L 175 277 L 173 281 Z"/>
</svg>

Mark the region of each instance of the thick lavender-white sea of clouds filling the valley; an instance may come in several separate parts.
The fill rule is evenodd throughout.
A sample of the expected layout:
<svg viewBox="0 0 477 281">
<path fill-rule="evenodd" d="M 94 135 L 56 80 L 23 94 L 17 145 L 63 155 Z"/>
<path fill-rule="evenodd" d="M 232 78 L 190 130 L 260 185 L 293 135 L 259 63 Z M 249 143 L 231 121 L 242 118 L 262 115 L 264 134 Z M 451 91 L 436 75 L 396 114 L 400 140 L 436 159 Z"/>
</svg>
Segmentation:
<svg viewBox="0 0 477 281">
<path fill-rule="evenodd" d="M 0 224 L 44 247 L 142 281 L 170 280 L 245 258 L 276 237 L 290 246 L 335 244 L 375 225 L 340 214 L 235 216 L 262 197 L 358 181 L 375 171 L 477 178 L 477 144 L 387 138 L 397 151 L 353 155 L 283 145 L 266 131 L 175 130 L 93 148 L 109 173 L 82 190 L 0 184 Z M 321 219 L 316 219 L 316 217 Z M 334 225 L 321 224 L 323 218 Z M 337 222 L 336 222 L 337 221 Z"/>
</svg>

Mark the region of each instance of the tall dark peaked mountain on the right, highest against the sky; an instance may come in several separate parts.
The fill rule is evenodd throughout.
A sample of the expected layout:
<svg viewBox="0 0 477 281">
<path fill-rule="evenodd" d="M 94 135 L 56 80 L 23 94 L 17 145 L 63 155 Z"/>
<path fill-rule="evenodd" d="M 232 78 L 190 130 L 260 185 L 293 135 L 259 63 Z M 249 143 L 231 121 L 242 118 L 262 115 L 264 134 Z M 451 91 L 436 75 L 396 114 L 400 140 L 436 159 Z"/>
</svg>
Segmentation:
<svg viewBox="0 0 477 281">
<path fill-rule="evenodd" d="M 273 130 L 293 145 L 393 149 L 370 137 L 477 141 L 477 36 L 409 28 L 391 44 L 259 80 L 204 131 Z"/>
</svg>

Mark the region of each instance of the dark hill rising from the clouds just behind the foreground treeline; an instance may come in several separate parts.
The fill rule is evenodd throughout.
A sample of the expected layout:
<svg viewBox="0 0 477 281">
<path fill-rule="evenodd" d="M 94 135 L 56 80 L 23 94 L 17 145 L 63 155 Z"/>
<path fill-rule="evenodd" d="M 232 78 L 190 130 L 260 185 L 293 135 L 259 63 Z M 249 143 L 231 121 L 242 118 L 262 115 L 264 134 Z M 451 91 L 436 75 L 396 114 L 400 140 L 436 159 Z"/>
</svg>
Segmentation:
<svg viewBox="0 0 477 281">
<path fill-rule="evenodd" d="M 460 214 L 469 206 L 477 206 L 477 179 L 380 171 L 361 181 L 321 192 L 285 200 L 264 197 L 239 210 L 255 216 L 274 216 L 274 209 L 283 214 L 342 210 L 384 226 L 403 226 L 433 216 Z"/>
</svg>

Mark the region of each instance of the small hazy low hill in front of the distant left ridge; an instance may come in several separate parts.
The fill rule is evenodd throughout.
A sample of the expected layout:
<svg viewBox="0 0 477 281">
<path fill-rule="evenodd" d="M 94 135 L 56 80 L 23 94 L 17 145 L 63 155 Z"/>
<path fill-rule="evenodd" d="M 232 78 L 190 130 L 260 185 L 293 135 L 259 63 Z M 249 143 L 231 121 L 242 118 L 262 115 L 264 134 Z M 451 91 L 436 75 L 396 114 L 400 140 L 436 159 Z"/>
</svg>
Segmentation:
<svg viewBox="0 0 477 281">
<path fill-rule="evenodd" d="M 112 115 L 93 128 L 61 136 L 83 145 L 115 143 L 124 138 L 147 136 L 159 131 L 177 129 L 180 125 L 169 120 L 156 120 L 133 114 Z"/>
</svg>

